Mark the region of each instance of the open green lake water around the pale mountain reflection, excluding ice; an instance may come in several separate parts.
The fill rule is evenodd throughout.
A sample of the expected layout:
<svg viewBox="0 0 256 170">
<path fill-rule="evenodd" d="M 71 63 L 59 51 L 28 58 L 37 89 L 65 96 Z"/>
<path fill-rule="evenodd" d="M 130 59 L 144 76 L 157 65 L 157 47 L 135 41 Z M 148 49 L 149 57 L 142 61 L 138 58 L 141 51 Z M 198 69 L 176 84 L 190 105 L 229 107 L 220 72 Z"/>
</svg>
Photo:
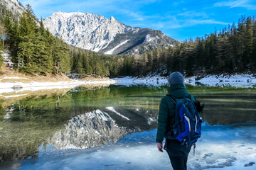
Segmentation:
<svg viewBox="0 0 256 170">
<path fill-rule="evenodd" d="M 202 117 L 209 125 L 256 121 L 256 89 L 186 87 L 206 104 Z M 157 125 L 159 102 L 167 89 L 168 86 L 77 87 L 65 93 L 0 101 L 0 162 L 38 157 L 38 148 L 51 144 L 51 137 L 70 120 L 97 109 L 110 115 L 119 128 L 125 128 L 119 138 L 132 132 L 153 130 Z M 107 107 L 113 107 L 121 115 Z M 106 142 L 105 139 L 102 143 Z"/>
</svg>

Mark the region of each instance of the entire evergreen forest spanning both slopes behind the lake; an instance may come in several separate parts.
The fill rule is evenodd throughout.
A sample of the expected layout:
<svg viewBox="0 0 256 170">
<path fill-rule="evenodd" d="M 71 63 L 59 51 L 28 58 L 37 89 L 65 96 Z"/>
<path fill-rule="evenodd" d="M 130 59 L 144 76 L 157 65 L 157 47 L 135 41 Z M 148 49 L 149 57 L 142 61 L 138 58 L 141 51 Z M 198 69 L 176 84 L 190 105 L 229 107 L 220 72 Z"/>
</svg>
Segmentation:
<svg viewBox="0 0 256 170">
<path fill-rule="evenodd" d="M 51 35 L 28 4 L 22 16 L 1 11 L 0 50 L 11 52 L 14 69 L 28 74 L 80 74 L 100 77 L 255 73 L 256 18 L 241 16 L 238 24 L 195 40 L 141 55 L 104 55 L 66 44 Z M 0 60 L 2 63 L 2 58 Z"/>
</svg>

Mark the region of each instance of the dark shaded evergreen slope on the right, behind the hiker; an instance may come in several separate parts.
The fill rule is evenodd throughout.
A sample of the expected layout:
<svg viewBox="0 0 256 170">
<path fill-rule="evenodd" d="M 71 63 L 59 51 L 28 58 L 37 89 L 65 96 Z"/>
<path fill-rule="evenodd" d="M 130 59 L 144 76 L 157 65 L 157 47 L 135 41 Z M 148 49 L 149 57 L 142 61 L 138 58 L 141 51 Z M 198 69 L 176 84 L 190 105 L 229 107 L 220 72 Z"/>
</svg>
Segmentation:
<svg viewBox="0 0 256 170">
<path fill-rule="evenodd" d="M 195 74 L 222 74 L 256 72 L 256 19 L 241 16 L 235 23 L 219 32 L 215 31 L 180 45 L 160 48 L 137 57 L 128 58 L 132 75 L 149 73 L 169 74 L 182 72 Z M 122 72 L 119 74 L 129 74 Z"/>
</svg>

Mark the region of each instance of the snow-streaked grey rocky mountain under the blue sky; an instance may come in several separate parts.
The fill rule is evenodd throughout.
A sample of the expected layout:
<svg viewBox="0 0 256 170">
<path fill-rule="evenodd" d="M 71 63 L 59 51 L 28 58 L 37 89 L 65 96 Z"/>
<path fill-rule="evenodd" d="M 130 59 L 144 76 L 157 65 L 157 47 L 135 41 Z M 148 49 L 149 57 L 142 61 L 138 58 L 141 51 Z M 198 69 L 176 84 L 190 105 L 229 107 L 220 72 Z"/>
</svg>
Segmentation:
<svg viewBox="0 0 256 170">
<path fill-rule="evenodd" d="M 76 47 L 105 54 L 139 54 L 178 43 L 160 30 L 137 28 L 91 13 L 57 12 L 43 20 L 53 35 Z"/>
</svg>

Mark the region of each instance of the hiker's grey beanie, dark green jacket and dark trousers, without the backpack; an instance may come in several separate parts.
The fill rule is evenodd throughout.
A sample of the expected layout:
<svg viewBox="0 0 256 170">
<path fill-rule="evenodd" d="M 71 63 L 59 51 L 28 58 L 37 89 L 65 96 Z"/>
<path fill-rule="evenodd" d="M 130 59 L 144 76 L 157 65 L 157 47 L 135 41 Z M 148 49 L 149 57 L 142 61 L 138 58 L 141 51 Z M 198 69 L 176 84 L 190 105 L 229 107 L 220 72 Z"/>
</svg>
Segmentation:
<svg viewBox="0 0 256 170">
<path fill-rule="evenodd" d="M 169 89 L 168 94 L 175 98 L 186 98 L 188 97 L 188 91 L 184 86 L 184 77 L 180 72 L 173 72 L 169 75 Z M 196 101 L 191 95 L 191 100 Z M 159 107 L 159 118 L 158 127 L 156 134 L 157 148 L 159 152 L 163 152 L 163 140 L 167 132 L 171 130 L 174 125 L 176 104 L 169 96 L 164 96 L 161 99 Z M 174 170 L 186 170 L 188 153 L 191 150 L 191 145 L 181 145 L 181 142 L 175 138 L 167 138 L 166 145 L 164 146 L 166 152 L 171 160 L 171 166 Z"/>
</svg>

